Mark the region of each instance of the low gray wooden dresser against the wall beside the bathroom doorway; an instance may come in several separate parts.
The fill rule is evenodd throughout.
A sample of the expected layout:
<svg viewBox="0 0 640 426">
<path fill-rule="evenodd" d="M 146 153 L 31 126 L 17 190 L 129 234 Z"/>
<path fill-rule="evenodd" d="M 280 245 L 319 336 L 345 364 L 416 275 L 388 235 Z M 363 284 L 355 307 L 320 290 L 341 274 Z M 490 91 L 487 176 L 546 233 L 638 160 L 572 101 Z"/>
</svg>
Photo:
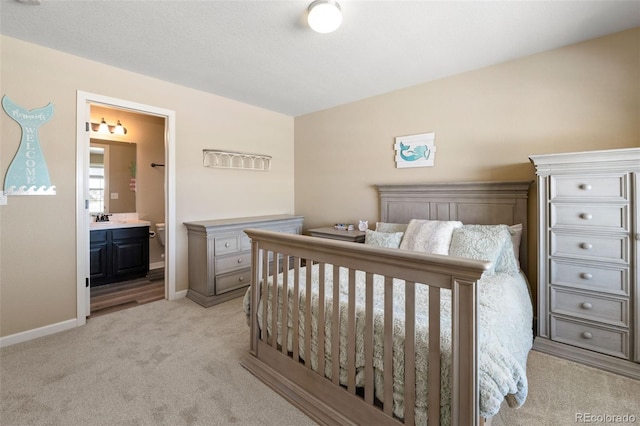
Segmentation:
<svg viewBox="0 0 640 426">
<path fill-rule="evenodd" d="M 244 295 L 251 284 L 246 228 L 300 234 L 302 216 L 273 215 L 185 222 L 189 236 L 187 297 L 209 307 Z"/>
</svg>

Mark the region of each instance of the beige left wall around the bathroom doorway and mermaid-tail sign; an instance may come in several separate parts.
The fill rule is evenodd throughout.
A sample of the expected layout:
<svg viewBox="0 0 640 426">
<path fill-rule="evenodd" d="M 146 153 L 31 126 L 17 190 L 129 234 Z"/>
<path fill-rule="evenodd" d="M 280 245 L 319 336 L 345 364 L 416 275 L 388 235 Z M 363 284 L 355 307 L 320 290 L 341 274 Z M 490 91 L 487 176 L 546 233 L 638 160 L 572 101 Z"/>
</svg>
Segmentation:
<svg viewBox="0 0 640 426">
<path fill-rule="evenodd" d="M 176 274 L 188 285 L 184 221 L 293 213 L 293 118 L 88 61 L 17 39 L 0 38 L 0 93 L 27 109 L 49 102 L 40 128 L 54 196 L 10 196 L 0 206 L 0 336 L 76 317 L 76 91 L 176 113 Z M 0 175 L 17 151 L 20 128 L 0 113 Z M 270 172 L 202 166 L 202 149 L 273 156 Z M 161 159 L 153 161 L 161 162 Z"/>
</svg>

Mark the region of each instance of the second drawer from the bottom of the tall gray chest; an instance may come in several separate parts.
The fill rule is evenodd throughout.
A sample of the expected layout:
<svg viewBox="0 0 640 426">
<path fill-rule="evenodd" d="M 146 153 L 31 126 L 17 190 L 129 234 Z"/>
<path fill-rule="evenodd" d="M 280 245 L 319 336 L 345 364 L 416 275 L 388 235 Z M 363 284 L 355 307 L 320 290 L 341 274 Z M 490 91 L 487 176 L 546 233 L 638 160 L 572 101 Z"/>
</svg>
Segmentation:
<svg viewBox="0 0 640 426">
<path fill-rule="evenodd" d="M 551 312 L 619 327 L 629 326 L 629 302 L 559 288 L 551 288 Z"/>
</svg>

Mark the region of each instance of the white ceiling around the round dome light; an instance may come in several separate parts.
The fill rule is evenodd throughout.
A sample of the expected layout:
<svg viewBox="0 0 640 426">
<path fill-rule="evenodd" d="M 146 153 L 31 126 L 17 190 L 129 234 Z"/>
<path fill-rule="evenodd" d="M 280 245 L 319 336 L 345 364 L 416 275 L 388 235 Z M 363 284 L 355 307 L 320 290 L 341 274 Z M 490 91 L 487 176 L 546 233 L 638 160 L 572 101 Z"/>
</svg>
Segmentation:
<svg viewBox="0 0 640 426">
<path fill-rule="evenodd" d="M 640 26 L 640 0 L 340 0 L 318 34 L 309 3 L 0 0 L 0 33 L 298 116 Z"/>
</svg>

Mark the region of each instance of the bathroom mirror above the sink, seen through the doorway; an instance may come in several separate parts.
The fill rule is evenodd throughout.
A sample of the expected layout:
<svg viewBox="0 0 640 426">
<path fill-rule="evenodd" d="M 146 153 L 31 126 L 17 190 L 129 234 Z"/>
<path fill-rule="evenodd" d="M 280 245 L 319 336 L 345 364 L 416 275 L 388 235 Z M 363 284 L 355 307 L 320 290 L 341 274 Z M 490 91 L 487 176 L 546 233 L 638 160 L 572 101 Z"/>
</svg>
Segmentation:
<svg viewBox="0 0 640 426">
<path fill-rule="evenodd" d="M 136 189 L 136 144 L 92 138 L 89 213 L 135 213 Z"/>
</svg>

